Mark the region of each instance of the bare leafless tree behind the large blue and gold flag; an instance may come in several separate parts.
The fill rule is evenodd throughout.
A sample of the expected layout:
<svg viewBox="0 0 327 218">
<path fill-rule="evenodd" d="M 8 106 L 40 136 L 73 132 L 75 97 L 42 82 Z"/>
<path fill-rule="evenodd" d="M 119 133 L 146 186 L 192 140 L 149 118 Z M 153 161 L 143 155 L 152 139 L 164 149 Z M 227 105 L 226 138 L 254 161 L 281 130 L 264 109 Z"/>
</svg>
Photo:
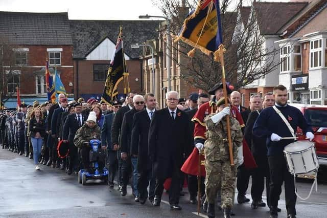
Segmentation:
<svg viewBox="0 0 327 218">
<path fill-rule="evenodd" d="M 166 17 L 170 18 L 172 35 L 178 35 L 186 12 L 195 9 L 198 4 L 196 0 L 152 0 L 152 2 Z M 223 44 L 226 49 L 225 74 L 227 81 L 230 81 L 236 88 L 240 88 L 274 70 L 279 65 L 275 58 L 278 51 L 262 49 L 265 38 L 260 35 L 255 13 L 249 14 L 244 30 L 235 34 L 235 27 L 242 22 L 242 19 L 237 16 L 241 4 L 236 7 L 235 11 L 227 11 L 231 3 L 232 0 L 222 0 L 220 5 Z M 162 38 L 165 38 L 164 34 L 162 33 Z M 178 61 L 176 56 L 173 56 L 173 61 L 184 69 L 180 76 L 187 82 L 207 91 L 215 83 L 221 81 L 221 64 L 214 61 L 213 57 L 197 51 L 193 58 L 188 58 L 187 54 L 192 47 L 182 41 L 173 43 L 172 47 L 173 51 L 179 52 L 181 56 L 179 59 L 188 59 L 188 61 Z"/>
</svg>

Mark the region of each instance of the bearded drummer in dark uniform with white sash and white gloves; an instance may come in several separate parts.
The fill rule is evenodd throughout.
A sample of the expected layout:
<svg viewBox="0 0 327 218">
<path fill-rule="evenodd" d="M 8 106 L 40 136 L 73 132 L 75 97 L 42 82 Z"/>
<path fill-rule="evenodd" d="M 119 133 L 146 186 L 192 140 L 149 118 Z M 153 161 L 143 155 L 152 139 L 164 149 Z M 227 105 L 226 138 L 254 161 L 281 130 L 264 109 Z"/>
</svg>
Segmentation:
<svg viewBox="0 0 327 218">
<path fill-rule="evenodd" d="M 296 107 L 287 104 L 287 90 L 284 85 L 278 85 L 274 88 L 274 97 L 276 108 L 287 119 L 293 129 L 293 134 L 297 127 L 300 127 L 303 133 L 306 133 L 306 139 L 313 140 L 313 131 L 305 117 Z M 293 137 L 293 134 L 274 107 L 268 107 L 260 113 L 253 126 L 253 134 L 257 137 L 267 138 L 267 155 L 270 168 L 270 217 L 277 217 L 277 205 L 283 182 L 285 184 L 287 217 L 296 217 L 294 178 L 288 171 L 283 154 L 285 146 L 294 140 L 282 139 L 283 137 Z"/>
</svg>

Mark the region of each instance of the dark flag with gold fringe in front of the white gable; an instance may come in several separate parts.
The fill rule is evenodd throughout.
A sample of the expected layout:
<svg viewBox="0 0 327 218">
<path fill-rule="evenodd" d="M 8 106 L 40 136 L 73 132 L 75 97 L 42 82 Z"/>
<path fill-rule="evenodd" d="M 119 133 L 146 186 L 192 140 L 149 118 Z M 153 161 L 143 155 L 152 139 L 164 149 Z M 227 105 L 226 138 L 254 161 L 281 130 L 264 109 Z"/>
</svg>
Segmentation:
<svg viewBox="0 0 327 218">
<path fill-rule="evenodd" d="M 123 34 L 121 27 L 116 47 L 111 57 L 101 100 L 111 105 L 119 94 L 118 84 L 121 81 L 124 82 L 124 94 L 126 95 L 130 92 L 128 75 L 124 57 Z"/>
</svg>

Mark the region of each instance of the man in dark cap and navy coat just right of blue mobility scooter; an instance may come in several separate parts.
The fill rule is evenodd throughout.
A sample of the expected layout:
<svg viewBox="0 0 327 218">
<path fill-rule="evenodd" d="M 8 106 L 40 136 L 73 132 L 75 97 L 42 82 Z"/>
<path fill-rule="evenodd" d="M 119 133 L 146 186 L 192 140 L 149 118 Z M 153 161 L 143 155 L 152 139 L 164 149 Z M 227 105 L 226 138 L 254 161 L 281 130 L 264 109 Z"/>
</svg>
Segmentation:
<svg viewBox="0 0 327 218">
<path fill-rule="evenodd" d="M 118 168 L 118 159 L 117 159 L 117 150 L 118 146 L 112 146 L 111 144 L 111 125 L 113 122 L 113 118 L 116 115 L 116 112 L 119 108 L 122 107 L 122 103 L 119 100 L 115 100 L 113 102 L 113 110 L 112 113 L 104 116 L 104 122 L 101 128 L 101 143 L 103 146 L 107 147 L 107 163 L 109 163 L 109 178 L 108 185 L 110 188 L 113 188 L 113 180 L 116 174 L 116 170 Z"/>
</svg>

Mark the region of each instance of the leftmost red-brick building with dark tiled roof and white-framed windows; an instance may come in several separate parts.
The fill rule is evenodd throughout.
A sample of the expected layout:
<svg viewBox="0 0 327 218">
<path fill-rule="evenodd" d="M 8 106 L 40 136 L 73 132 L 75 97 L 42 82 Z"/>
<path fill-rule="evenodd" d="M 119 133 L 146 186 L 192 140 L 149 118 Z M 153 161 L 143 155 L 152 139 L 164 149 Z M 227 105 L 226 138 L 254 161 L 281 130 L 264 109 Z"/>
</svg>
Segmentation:
<svg viewBox="0 0 327 218">
<path fill-rule="evenodd" d="M 73 42 L 67 13 L 0 12 L 0 44 L 2 48 L 10 47 L 0 69 L 1 91 L 7 107 L 16 106 L 16 86 L 25 103 L 48 100 L 47 57 L 51 74 L 57 67 L 67 94 L 73 94 Z"/>
</svg>

